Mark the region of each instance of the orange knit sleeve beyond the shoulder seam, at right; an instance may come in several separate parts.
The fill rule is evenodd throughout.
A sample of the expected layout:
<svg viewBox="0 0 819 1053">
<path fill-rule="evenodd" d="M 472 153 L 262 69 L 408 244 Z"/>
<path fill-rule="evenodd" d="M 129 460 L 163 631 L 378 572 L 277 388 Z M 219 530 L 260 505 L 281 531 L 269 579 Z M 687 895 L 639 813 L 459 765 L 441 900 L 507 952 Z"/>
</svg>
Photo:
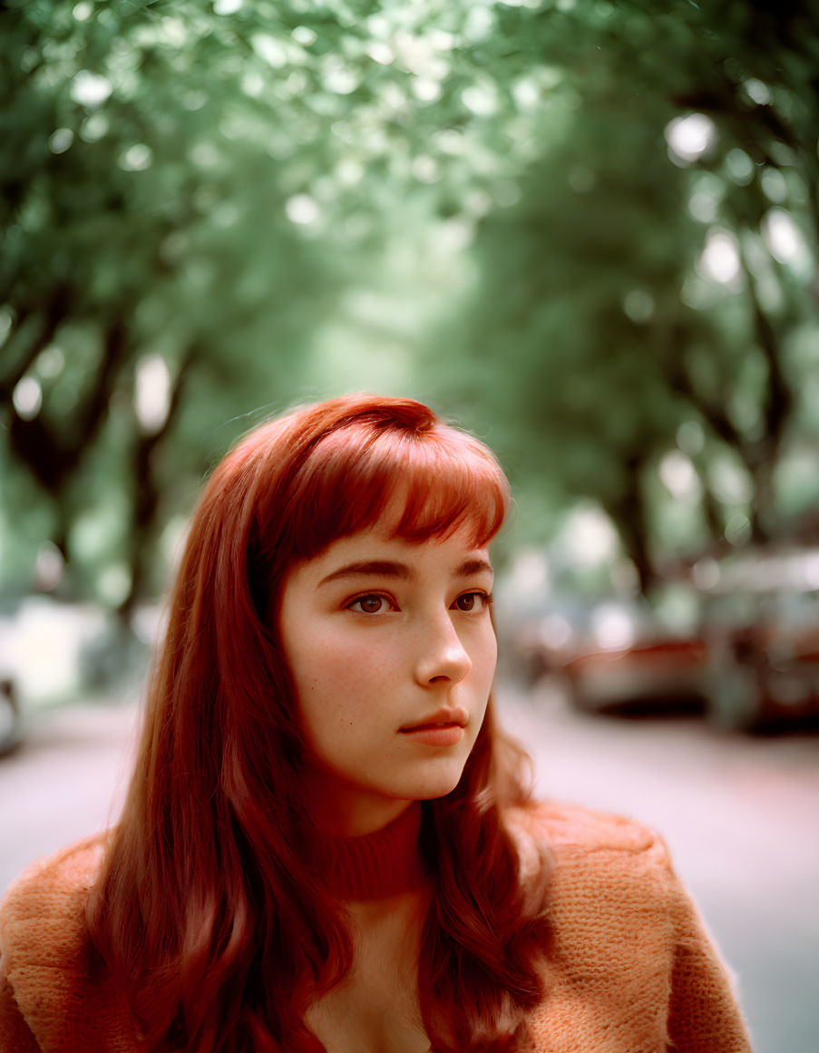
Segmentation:
<svg viewBox="0 0 819 1053">
<path fill-rule="evenodd" d="M 671 1049 L 752 1053 L 728 971 L 686 890 L 673 871 L 671 876 L 677 933 L 668 1005 Z"/>
</svg>

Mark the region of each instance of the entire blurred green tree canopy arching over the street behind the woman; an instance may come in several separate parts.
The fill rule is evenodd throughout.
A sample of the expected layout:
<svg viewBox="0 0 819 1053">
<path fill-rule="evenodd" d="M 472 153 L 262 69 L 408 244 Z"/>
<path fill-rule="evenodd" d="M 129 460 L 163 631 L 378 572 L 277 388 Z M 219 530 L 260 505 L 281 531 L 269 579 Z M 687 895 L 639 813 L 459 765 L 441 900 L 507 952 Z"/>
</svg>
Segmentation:
<svg viewBox="0 0 819 1053">
<path fill-rule="evenodd" d="M 813 3 L 16 0 L 0 29 L 6 580 L 51 539 L 126 613 L 255 411 L 381 376 L 551 508 L 594 498 L 645 585 L 775 529 L 819 429 Z"/>
</svg>

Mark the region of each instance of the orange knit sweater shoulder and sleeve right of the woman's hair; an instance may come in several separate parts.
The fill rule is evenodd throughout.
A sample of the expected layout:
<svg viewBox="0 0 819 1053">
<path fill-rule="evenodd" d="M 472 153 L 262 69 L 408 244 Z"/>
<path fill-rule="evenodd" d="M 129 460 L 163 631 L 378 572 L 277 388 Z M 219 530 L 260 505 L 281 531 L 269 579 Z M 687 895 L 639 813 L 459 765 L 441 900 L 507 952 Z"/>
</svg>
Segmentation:
<svg viewBox="0 0 819 1053">
<path fill-rule="evenodd" d="M 657 1049 L 750 1053 L 732 975 L 656 830 L 628 816 L 553 801 L 519 809 L 510 821 L 524 846 L 524 873 L 525 846 L 528 858 L 539 856 L 547 867 L 554 989 L 537 1020 L 542 1048 L 552 1048 L 561 999 L 574 1005 L 579 984 L 595 992 L 590 1005 L 606 1007 L 606 1049 L 616 1031 L 627 1037 L 612 1049 L 645 1048 L 646 1029 L 666 1007 Z M 618 1018 L 621 1011 L 625 1016 Z M 575 1029 L 578 1020 L 570 1016 Z"/>
</svg>

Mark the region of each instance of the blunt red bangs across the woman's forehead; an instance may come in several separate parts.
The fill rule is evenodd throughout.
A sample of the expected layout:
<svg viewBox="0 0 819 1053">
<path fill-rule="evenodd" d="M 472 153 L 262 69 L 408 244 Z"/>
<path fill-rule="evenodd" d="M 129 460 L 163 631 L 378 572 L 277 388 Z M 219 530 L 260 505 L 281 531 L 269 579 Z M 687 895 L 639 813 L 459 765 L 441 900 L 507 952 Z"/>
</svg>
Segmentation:
<svg viewBox="0 0 819 1053">
<path fill-rule="evenodd" d="M 419 542 L 468 531 L 482 549 L 500 530 L 508 483 L 477 439 L 445 424 L 423 431 L 357 421 L 326 434 L 304 460 L 294 541 L 311 559 L 387 517 L 391 537 Z"/>
</svg>

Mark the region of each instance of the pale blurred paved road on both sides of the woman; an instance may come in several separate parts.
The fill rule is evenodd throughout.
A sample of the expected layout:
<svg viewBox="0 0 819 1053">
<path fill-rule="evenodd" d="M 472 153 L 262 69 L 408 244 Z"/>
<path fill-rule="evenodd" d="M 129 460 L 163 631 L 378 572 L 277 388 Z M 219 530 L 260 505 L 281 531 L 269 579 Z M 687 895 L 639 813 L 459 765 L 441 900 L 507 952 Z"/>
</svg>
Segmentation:
<svg viewBox="0 0 819 1053">
<path fill-rule="evenodd" d="M 544 796 L 658 827 L 739 976 L 756 1053 L 819 1050 L 819 738 L 725 736 L 698 721 L 581 717 L 541 689 L 500 710 Z M 39 714 L 0 760 L 0 888 L 117 814 L 133 704 Z"/>
</svg>

